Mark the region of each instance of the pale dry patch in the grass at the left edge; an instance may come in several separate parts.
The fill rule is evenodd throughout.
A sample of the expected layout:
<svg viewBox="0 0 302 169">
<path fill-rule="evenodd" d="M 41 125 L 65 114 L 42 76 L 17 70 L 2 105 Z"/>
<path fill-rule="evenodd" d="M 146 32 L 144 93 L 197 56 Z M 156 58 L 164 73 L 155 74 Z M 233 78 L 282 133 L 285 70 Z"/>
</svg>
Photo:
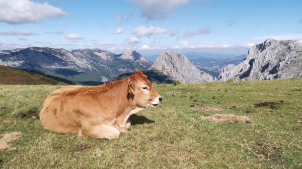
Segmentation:
<svg viewBox="0 0 302 169">
<path fill-rule="evenodd" d="M 0 151 L 12 150 L 9 142 L 16 140 L 21 135 L 21 132 L 10 132 L 0 135 Z"/>
</svg>

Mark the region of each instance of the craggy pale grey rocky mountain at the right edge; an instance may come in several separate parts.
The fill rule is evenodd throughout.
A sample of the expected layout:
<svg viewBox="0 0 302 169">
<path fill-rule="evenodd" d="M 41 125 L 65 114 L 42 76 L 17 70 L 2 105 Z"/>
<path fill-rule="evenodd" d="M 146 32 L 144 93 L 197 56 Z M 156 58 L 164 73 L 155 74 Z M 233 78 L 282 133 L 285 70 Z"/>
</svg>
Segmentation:
<svg viewBox="0 0 302 169">
<path fill-rule="evenodd" d="M 219 81 L 302 78 L 302 43 L 268 39 L 248 50 L 245 60 L 223 68 Z"/>
</svg>

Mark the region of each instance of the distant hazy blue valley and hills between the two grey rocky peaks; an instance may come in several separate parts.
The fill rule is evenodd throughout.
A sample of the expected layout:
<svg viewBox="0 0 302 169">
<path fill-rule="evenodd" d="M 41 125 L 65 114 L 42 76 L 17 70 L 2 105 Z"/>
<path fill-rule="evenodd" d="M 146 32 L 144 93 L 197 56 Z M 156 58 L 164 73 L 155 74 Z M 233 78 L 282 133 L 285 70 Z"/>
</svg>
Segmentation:
<svg viewBox="0 0 302 169">
<path fill-rule="evenodd" d="M 226 56 L 224 58 L 199 56 L 189 60 L 200 70 L 218 78 L 222 68 L 229 64 L 238 65 L 245 57 L 246 55 Z"/>
</svg>

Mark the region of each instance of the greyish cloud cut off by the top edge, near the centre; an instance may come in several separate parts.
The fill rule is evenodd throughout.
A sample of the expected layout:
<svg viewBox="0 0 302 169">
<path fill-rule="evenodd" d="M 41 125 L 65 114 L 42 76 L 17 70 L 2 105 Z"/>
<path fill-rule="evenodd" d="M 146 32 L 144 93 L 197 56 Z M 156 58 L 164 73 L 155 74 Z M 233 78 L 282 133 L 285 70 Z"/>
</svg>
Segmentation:
<svg viewBox="0 0 302 169">
<path fill-rule="evenodd" d="M 183 6 L 189 0 L 131 0 L 138 4 L 142 16 L 146 19 L 164 19 L 176 8 Z"/>
</svg>

